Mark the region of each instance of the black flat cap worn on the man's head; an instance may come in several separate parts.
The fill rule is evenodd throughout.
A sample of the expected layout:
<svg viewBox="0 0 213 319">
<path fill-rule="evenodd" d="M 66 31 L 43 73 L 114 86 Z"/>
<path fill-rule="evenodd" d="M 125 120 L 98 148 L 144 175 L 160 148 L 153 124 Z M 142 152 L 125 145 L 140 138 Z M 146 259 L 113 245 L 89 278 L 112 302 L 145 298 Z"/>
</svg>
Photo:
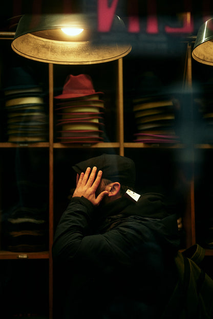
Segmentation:
<svg viewBox="0 0 213 319">
<path fill-rule="evenodd" d="M 97 172 L 101 170 L 102 178 L 118 181 L 121 185 L 135 186 L 135 163 L 132 159 L 115 154 L 102 154 L 73 166 L 76 173 L 85 172 L 88 167 L 96 166 Z"/>
</svg>

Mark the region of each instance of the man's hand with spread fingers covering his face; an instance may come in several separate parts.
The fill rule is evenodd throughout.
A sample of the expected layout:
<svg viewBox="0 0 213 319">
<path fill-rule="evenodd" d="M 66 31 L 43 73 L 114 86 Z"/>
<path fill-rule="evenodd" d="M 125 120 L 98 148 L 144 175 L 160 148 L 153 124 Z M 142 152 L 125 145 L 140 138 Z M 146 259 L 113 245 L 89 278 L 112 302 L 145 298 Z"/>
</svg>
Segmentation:
<svg viewBox="0 0 213 319">
<path fill-rule="evenodd" d="M 77 179 L 77 186 L 73 194 L 73 197 L 83 196 L 87 198 L 94 206 L 98 206 L 103 197 L 108 194 L 108 191 L 103 191 L 97 196 L 97 198 L 95 197 L 95 192 L 102 177 L 102 171 L 98 171 L 98 175 L 94 181 L 96 171 L 97 167 L 93 167 L 92 172 L 91 168 L 88 167 L 85 174 L 81 173 Z"/>
</svg>

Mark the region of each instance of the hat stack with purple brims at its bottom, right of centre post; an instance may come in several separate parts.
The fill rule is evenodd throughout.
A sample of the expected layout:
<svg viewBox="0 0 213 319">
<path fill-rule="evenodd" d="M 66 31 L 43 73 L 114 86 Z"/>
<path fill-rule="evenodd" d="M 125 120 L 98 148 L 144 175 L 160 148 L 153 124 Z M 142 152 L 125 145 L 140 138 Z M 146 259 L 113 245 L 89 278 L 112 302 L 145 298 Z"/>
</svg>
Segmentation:
<svg viewBox="0 0 213 319">
<path fill-rule="evenodd" d="M 132 99 L 135 127 L 134 142 L 177 143 L 173 100 L 154 72 L 137 79 Z"/>
</svg>

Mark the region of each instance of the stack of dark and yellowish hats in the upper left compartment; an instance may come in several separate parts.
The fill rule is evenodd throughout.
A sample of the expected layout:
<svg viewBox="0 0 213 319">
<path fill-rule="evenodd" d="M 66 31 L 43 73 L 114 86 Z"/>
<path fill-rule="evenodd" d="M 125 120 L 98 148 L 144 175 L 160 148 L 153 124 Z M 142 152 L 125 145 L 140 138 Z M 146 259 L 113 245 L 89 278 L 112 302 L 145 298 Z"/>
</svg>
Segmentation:
<svg viewBox="0 0 213 319">
<path fill-rule="evenodd" d="M 42 87 L 23 67 L 10 70 L 4 88 L 8 142 L 47 141 L 47 115 Z"/>
</svg>

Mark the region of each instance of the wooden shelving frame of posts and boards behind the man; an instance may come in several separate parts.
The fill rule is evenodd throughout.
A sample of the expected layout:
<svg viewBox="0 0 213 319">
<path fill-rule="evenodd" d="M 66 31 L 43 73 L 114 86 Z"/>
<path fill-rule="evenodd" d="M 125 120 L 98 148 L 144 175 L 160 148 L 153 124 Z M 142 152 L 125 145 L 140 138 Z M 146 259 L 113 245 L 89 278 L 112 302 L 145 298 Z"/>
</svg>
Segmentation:
<svg viewBox="0 0 213 319">
<path fill-rule="evenodd" d="M 12 40 L 14 33 L 0 32 L 0 40 Z M 190 62 L 190 50 L 188 47 L 187 51 L 187 64 L 186 64 L 186 81 L 191 85 L 191 62 Z M 6 149 L 15 148 L 33 148 L 33 149 L 47 149 L 49 154 L 49 250 L 46 252 L 30 252 L 30 253 L 14 253 L 5 250 L 0 251 L 0 260 L 49 260 L 49 319 L 53 318 L 53 262 L 51 256 L 51 247 L 54 237 L 54 226 L 55 226 L 55 194 L 54 183 L 55 183 L 55 152 L 70 150 L 74 153 L 78 153 L 84 150 L 90 151 L 104 151 L 104 152 L 116 152 L 120 155 L 125 155 L 127 151 L 149 151 L 156 150 L 156 154 L 159 150 L 183 150 L 186 148 L 184 144 L 174 144 L 174 145 L 159 145 L 159 144 L 144 144 L 144 143 L 133 143 L 124 141 L 124 108 L 123 108 L 123 60 L 119 59 L 116 62 L 116 74 L 117 77 L 117 87 L 116 87 L 116 114 L 117 114 L 117 125 L 115 128 L 116 139 L 115 142 L 101 142 L 92 145 L 65 145 L 57 143 L 54 140 L 54 65 L 49 64 L 48 66 L 48 78 L 49 78 L 49 141 L 44 143 L 8 143 L 0 141 L 0 151 L 4 152 Z M 211 144 L 196 144 L 195 149 L 213 149 Z M 187 194 L 187 207 L 184 213 L 184 227 L 186 231 L 185 247 L 188 247 L 196 243 L 196 225 L 195 225 L 195 178 L 194 175 L 188 182 L 188 194 Z M 1 209 L 1 207 L 0 207 Z M 1 217 L 1 216 L 0 216 Z M 213 249 L 206 249 L 206 256 L 213 256 Z M 12 302 L 12 301 L 11 301 Z"/>
</svg>

